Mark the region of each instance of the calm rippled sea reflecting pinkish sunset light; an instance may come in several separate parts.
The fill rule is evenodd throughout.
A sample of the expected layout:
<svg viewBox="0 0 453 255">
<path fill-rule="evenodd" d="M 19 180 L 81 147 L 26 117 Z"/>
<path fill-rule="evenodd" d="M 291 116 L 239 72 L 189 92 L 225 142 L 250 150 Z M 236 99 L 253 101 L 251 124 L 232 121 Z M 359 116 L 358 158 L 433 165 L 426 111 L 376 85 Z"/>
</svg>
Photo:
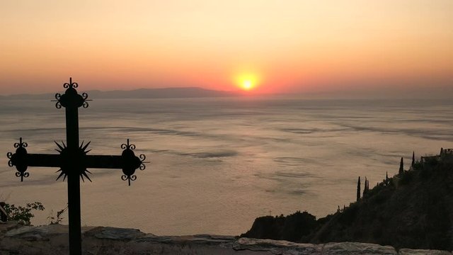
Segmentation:
<svg viewBox="0 0 453 255">
<path fill-rule="evenodd" d="M 96 98 L 95 98 L 96 99 Z M 355 200 L 357 176 L 371 186 L 420 157 L 453 147 L 452 101 L 183 98 L 95 100 L 79 110 L 90 154 L 121 154 L 129 138 L 147 169 L 132 186 L 121 170 L 93 169 L 81 185 L 82 225 L 154 234 L 241 234 L 262 215 L 307 210 L 317 217 Z M 57 153 L 64 109 L 50 101 L 0 101 L 0 198 L 40 201 L 33 224 L 66 206 L 57 169 L 30 168 L 21 181 L 7 152 Z M 53 211 L 53 212 L 52 212 Z M 67 217 L 67 215 L 64 215 Z M 64 223 L 67 219 L 64 219 Z"/>
</svg>

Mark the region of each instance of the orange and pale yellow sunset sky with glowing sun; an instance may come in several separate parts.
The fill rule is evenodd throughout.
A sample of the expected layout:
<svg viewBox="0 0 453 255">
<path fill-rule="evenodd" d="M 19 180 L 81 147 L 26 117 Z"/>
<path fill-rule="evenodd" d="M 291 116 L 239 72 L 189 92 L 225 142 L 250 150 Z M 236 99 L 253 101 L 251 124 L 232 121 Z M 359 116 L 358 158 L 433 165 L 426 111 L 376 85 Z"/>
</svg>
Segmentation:
<svg viewBox="0 0 453 255">
<path fill-rule="evenodd" d="M 0 1 L 0 94 L 453 92 L 452 0 Z"/>
</svg>

